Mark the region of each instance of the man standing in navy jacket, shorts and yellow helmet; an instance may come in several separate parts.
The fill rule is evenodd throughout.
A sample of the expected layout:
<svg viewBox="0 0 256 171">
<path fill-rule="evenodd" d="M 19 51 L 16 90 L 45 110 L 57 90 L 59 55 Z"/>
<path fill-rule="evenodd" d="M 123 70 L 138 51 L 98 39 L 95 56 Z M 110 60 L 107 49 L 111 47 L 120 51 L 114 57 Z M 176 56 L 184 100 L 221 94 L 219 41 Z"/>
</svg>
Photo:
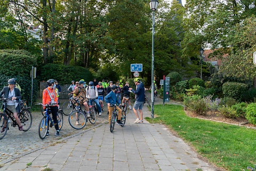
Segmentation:
<svg viewBox="0 0 256 171">
<path fill-rule="evenodd" d="M 145 88 L 144 88 L 144 84 L 142 82 L 140 82 L 139 78 L 134 78 L 133 82 L 137 86 L 136 91 L 132 88 L 129 88 L 129 90 L 132 91 L 134 94 L 136 94 L 136 100 L 133 105 L 133 111 L 134 111 L 134 114 L 137 117 L 137 119 L 134 121 L 134 123 L 143 124 L 142 107 L 143 107 L 143 103 L 145 101 Z M 139 118 L 139 115 L 137 112 L 138 109 L 140 112 L 140 118 Z"/>
</svg>

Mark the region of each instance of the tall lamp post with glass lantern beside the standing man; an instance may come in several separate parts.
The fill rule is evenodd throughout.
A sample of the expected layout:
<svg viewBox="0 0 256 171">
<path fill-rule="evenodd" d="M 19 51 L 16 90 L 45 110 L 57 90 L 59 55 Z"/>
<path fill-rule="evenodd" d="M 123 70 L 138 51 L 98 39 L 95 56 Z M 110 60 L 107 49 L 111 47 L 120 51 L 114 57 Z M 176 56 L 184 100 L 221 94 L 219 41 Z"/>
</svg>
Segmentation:
<svg viewBox="0 0 256 171">
<path fill-rule="evenodd" d="M 159 2 L 157 0 L 151 0 L 149 5 L 150 9 L 153 11 L 153 27 L 152 27 L 152 68 L 151 68 L 151 118 L 154 118 L 154 17 L 157 5 Z"/>
</svg>

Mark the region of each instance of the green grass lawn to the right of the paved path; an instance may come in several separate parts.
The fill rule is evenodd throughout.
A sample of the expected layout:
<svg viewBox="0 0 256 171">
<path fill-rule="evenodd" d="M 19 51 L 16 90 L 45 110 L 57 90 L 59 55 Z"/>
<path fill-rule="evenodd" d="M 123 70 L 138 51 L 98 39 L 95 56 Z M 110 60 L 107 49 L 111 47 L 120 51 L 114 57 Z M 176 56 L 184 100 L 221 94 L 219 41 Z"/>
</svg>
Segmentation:
<svg viewBox="0 0 256 171">
<path fill-rule="evenodd" d="M 198 153 L 227 170 L 246 170 L 256 162 L 256 131 L 235 125 L 190 118 L 181 105 L 155 105 L 156 118 L 173 129 Z"/>
</svg>

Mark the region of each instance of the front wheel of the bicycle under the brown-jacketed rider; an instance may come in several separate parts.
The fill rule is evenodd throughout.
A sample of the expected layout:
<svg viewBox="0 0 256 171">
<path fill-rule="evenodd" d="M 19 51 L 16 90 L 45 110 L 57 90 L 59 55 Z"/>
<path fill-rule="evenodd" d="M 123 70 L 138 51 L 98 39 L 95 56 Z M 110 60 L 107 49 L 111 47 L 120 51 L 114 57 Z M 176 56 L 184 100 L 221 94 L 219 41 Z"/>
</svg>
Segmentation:
<svg viewBox="0 0 256 171">
<path fill-rule="evenodd" d="M 74 110 L 73 112 L 70 113 L 68 117 L 68 122 L 71 127 L 74 129 L 82 129 L 86 125 L 86 117 L 83 111 L 78 112 L 78 110 Z"/>
</svg>

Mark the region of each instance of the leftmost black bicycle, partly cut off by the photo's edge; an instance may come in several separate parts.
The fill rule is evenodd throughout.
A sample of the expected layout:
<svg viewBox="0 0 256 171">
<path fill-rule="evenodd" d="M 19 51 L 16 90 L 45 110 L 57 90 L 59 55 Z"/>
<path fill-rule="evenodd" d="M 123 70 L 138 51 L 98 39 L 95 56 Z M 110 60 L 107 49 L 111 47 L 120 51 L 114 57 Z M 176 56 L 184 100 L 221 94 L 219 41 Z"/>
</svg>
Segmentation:
<svg viewBox="0 0 256 171">
<path fill-rule="evenodd" d="M 17 121 L 14 119 L 12 112 L 6 108 L 7 100 L 11 100 L 12 98 L 0 98 L 0 100 L 3 101 L 4 109 L 3 112 L 0 113 L 0 129 L 2 130 L 3 127 L 5 127 L 5 130 L 0 133 L 0 140 L 3 139 L 3 137 L 6 135 L 8 129 L 9 129 L 9 119 L 11 119 L 11 126 L 16 127 L 19 126 Z M 17 102 L 18 103 L 18 102 Z M 23 127 L 23 131 L 28 131 L 32 125 L 32 115 L 29 108 L 23 108 L 20 113 L 18 114 L 18 117 L 20 119 L 20 124 Z M 5 126 L 4 126 L 5 125 Z"/>
</svg>

